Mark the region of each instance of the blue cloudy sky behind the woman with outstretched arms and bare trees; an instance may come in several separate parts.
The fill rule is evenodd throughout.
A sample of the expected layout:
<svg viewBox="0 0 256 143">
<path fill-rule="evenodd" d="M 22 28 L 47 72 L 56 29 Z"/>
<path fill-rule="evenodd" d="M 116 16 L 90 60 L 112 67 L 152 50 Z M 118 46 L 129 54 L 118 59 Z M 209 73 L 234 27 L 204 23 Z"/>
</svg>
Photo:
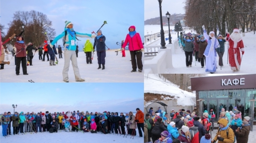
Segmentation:
<svg viewBox="0 0 256 143">
<path fill-rule="evenodd" d="M 56 36 L 64 31 L 66 20 L 74 24 L 75 31 L 89 34 L 92 31 L 96 32 L 103 21 L 107 21 L 108 24 L 101 29 L 106 37 L 105 43 L 110 49 L 118 49 L 120 46 L 116 43 L 125 40 L 131 25 L 135 25 L 136 31 L 143 35 L 143 2 L 143 0 L 1 0 L 0 19 L 1 24 L 8 28 L 15 11 L 39 11 L 52 21 Z M 7 29 L 3 31 L 7 33 Z M 87 38 L 77 39 L 82 40 L 77 41 L 81 51 Z M 91 42 L 93 43 L 94 40 Z M 63 45 L 62 39 L 58 41 L 58 45 Z"/>
</svg>

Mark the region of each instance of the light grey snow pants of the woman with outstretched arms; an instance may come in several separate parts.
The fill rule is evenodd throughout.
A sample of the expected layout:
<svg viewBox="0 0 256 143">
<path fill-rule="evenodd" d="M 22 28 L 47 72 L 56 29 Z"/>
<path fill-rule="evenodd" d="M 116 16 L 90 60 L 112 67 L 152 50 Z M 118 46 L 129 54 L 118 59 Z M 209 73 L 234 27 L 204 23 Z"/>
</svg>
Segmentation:
<svg viewBox="0 0 256 143">
<path fill-rule="evenodd" d="M 79 69 L 77 66 L 77 59 L 76 59 L 76 53 L 75 51 L 71 50 L 64 50 L 64 68 L 62 71 L 63 80 L 68 80 L 68 70 L 69 70 L 69 63 L 72 63 L 74 74 L 75 74 L 75 81 L 80 80 L 81 76 L 79 73 Z"/>
</svg>

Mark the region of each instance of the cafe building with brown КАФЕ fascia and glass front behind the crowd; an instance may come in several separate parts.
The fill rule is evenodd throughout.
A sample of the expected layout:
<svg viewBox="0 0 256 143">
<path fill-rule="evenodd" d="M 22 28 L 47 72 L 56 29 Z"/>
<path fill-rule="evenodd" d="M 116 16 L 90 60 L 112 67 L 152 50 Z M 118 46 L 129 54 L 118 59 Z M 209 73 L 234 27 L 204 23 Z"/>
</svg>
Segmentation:
<svg viewBox="0 0 256 143">
<path fill-rule="evenodd" d="M 249 116 L 255 124 L 256 74 L 191 77 L 191 90 L 196 92 L 196 105 L 209 113 L 213 109 L 217 119 L 222 108 L 234 112 L 236 107 L 242 119 Z"/>
</svg>

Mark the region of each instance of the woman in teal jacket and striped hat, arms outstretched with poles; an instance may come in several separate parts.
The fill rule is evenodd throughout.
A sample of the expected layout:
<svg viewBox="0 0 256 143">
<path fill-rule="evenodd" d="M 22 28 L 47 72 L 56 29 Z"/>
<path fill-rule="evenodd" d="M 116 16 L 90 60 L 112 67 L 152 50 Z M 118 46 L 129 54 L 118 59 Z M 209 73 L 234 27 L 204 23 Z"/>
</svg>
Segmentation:
<svg viewBox="0 0 256 143">
<path fill-rule="evenodd" d="M 65 31 L 66 31 L 66 37 L 65 37 Z M 75 81 L 85 81 L 84 79 L 81 78 L 79 69 L 77 66 L 77 58 L 76 58 L 76 37 L 89 37 L 89 38 L 95 38 L 95 35 L 92 34 L 86 34 L 86 33 L 79 33 L 75 32 L 73 29 L 73 24 L 70 21 L 65 21 L 65 28 L 64 31 L 58 35 L 53 42 L 51 42 L 50 47 L 53 48 L 53 45 L 60 40 L 61 38 L 65 37 L 64 41 L 64 68 L 62 71 L 63 75 L 63 81 L 64 82 L 69 82 L 68 81 L 68 70 L 69 70 L 69 63 L 71 60 L 74 74 L 75 74 Z"/>
</svg>

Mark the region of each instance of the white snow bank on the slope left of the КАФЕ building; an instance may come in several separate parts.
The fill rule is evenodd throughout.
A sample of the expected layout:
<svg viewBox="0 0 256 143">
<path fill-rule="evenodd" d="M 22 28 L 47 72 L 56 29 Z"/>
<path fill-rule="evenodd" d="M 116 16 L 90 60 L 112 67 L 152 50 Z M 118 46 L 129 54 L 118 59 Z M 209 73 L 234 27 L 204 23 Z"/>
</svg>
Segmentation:
<svg viewBox="0 0 256 143">
<path fill-rule="evenodd" d="M 182 105 L 182 106 L 195 105 L 195 102 L 191 99 L 192 97 L 196 97 L 194 93 L 184 91 L 175 84 L 167 83 L 170 81 L 166 80 L 166 82 L 164 82 L 163 79 L 161 79 L 157 74 L 148 74 L 145 76 L 149 78 L 144 77 L 144 93 L 170 95 L 170 96 L 174 96 L 173 99 L 177 100 L 178 105 Z M 167 100 L 167 99 L 170 99 L 170 97 L 163 98 L 163 100 Z"/>
</svg>

